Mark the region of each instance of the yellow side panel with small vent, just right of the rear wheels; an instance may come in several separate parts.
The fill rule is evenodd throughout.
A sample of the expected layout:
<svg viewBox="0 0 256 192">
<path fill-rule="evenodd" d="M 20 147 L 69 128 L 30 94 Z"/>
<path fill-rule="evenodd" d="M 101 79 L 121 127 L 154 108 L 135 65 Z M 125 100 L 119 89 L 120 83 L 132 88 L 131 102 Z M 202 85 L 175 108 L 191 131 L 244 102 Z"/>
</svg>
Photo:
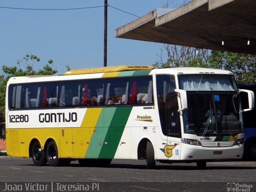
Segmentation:
<svg viewBox="0 0 256 192">
<path fill-rule="evenodd" d="M 59 128 L 60 157 L 73 157 L 72 128 Z"/>
</svg>

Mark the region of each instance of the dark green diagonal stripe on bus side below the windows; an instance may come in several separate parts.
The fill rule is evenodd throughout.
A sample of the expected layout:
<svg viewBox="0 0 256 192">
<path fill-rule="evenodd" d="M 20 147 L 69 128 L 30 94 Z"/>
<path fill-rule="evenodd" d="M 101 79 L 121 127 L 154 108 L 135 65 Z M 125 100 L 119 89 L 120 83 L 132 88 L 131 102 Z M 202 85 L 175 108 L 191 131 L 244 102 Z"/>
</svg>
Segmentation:
<svg viewBox="0 0 256 192">
<path fill-rule="evenodd" d="M 132 111 L 132 107 L 118 107 L 109 125 L 108 134 L 105 140 L 108 144 L 103 144 L 99 158 L 105 158 L 109 152 L 109 157 L 114 158 L 116 150 L 120 143 L 124 128 Z"/>
</svg>

